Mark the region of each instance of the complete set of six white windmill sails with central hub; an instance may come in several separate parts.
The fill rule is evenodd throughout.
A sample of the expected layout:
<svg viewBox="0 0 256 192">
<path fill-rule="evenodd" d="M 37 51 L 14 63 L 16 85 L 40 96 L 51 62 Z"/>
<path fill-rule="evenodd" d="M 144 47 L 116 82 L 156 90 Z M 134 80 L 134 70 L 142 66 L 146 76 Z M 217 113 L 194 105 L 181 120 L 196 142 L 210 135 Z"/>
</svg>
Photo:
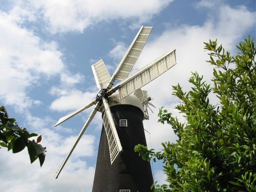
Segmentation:
<svg viewBox="0 0 256 192">
<path fill-rule="evenodd" d="M 99 60 L 92 66 L 96 84 L 97 84 L 97 87 L 99 88 L 99 95 L 97 95 L 96 99 L 94 99 L 91 103 L 87 104 L 83 108 L 67 116 L 61 117 L 58 120 L 58 122 L 54 125 L 54 126 L 57 126 L 58 124 L 70 119 L 71 117 L 77 115 L 83 110 L 90 108 L 92 105 L 96 105 L 94 110 L 90 114 L 88 120 L 84 124 L 70 152 L 68 153 L 67 157 L 62 162 L 57 173 L 55 174 L 55 178 L 57 178 L 58 175 L 60 174 L 63 166 L 65 166 L 74 148 L 76 147 L 78 141 L 82 137 L 82 134 L 84 133 L 84 131 L 86 131 L 88 125 L 94 118 L 96 112 L 99 111 L 102 104 L 104 105 L 104 114 L 103 114 L 102 120 L 103 120 L 104 129 L 106 132 L 106 137 L 108 138 L 111 164 L 121 154 L 122 146 L 117 134 L 116 126 L 110 111 L 110 106 L 109 106 L 107 97 L 111 96 L 114 92 L 119 90 L 119 98 L 122 99 L 127 95 L 133 93 L 134 91 L 140 89 L 148 82 L 151 82 L 152 80 L 154 80 L 159 75 L 161 75 L 162 73 L 164 73 L 165 71 L 167 71 L 168 69 L 170 69 L 176 64 L 175 50 L 170 51 L 167 54 L 160 57 L 159 59 L 152 62 L 150 65 L 147 65 L 146 67 L 142 68 L 140 71 L 138 71 L 131 77 L 127 78 L 139 54 L 141 53 L 145 45 L 145 42 L 151 33 L 151 30 L 152 30 L 152 27 L 142 26 L 140 28 L 138 34 L 136 35 L 132 44 L 127 50 L 126 54 L 120 61 L 112 77 L 109 75 L 109 72 L 106 69 L 104 62 L 102 60 Z M 118 83 L 114 88 L 112 88 L 115 79 L 121 80 L 121 82 Z M 103 89 L 104 87 L 106 87 L 106 89 Z M 148 104 L 154 106 L 151 103 L 148 103 Z"/>
</svg>

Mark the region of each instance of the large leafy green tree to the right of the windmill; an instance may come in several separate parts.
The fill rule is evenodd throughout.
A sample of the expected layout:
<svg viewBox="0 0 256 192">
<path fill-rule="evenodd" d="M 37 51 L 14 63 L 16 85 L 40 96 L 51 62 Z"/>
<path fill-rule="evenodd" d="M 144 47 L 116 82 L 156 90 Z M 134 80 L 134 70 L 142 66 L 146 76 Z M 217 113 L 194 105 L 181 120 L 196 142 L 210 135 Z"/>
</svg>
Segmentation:
<svg viewBox="0 0 256 192">
<path fill-rule="evenodd" d="M 137 145 L 143 159 L 162 160 L 168 184 L 155 183 L 155 191 L 256 191 L 256 75 L 254 40 L 248 37 L 230 56 L 215 41 L 204 43 L 213 71 L 212 86 L 197 73 L 189 78 L 191 90 L 173 86 L 176 106 L 184 114 L 181 123 L 167 110 L 159 122 L 168 123 L 178 136 L 176 143 L 162 143 L 155 152 Z M 211 104 L 209 94 L 218 97 Z"/>
</svg>

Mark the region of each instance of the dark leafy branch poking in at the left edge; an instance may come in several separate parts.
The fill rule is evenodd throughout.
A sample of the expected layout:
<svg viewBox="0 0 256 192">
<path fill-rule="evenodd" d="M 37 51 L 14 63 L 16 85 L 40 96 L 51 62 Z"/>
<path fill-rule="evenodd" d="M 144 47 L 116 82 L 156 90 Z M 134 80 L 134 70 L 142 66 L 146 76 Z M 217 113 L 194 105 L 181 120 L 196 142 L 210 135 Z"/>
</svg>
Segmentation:
<svg viewBox="0 0 256 192">
<path fill-rule="evenodd" d="M 29 133 L 26 128 L 21 128 L 14 118 L 9 118 L 4 106 L 0 107 L 0 146 L 7 147 L 8 151 L 18 153 L 27 146 L 30 162 L 33 163 L 37 158 L 40 166 L 44 164 L 46 147 L 38 144 L 41 141 L 41 135 L 36 141 L 31 137 L 38 136 L 36 133 Z M 0 147 L 1 148 L 1 147 Z"/>
</svg>

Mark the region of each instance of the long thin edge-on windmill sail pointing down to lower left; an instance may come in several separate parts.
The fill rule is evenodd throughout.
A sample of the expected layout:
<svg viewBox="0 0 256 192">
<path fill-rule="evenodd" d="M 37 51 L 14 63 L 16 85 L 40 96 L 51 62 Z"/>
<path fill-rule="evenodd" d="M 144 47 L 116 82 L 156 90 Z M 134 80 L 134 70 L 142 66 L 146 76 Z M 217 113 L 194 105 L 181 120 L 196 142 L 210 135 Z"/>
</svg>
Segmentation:
<svg viewBox="0 0 256 192">
<path fill-rule="evenodd" d="M 81 132 L 79 133 L 79 135 L 78 135 L 78 137 L 77 137 L 75 143 L 74 143 L 73 146 L 71 147 L 71 149 L 70 149 L 70 151 L 69 151 L 67 157 L 64 159 L 64 161 L 63 161 L 62 164 L 60 165 L 58 171 L 56 172 L 56 174 L 55 174 L 55 176 L 54 176 L 55 179 L 58 178 L 58 175 L 60 174 L 62 168 L 63 168 L 63 167 L 65 166 L 65 164 L 67 163 L 67 161 L 68 161 L 69 157 L 71 156 L 72 152 L 74 151 L 74 149 L 75 149 L 75 147 L 76 147 L 78 141 L 81 139 L 83 133 L 86 131 L 88 125 L 89 125 L 90 122 L 93 120 L 93 118 L 94 118 L 95 114 L 97 113 L 97 111 L 99 111 L 100 106 L 101 106 L 101 104 L 100 104 L 100 102 L 98 101 L 97 104 L 96 104 L 96 106 L 95 106 L 95 108 L 93 109 L 93 111 L 92 111 L 91 114 L 89 115 L 89 118 L 87 119 L 86 123 L 83 125 L 82 130 L 81 130 Z"/>
</svg>

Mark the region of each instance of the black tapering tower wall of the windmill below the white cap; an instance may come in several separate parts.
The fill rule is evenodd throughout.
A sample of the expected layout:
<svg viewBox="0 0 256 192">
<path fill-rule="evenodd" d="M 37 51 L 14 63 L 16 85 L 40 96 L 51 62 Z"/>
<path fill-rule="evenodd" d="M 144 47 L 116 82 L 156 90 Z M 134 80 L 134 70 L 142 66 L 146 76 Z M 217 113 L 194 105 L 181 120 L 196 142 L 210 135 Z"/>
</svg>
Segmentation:
<svg viewBox="0 0 256 192">
<path fill-rule="evenodd" d="M 135 145 L 146 145 L 142 111 L 133 105 L 114 105 L 111 112 L 123 152 L 111 165 L 108 139 L 102 126 L 93 192 L 153 191 L 150 189 L 153 184 L 150 162 L 143 161 L 134 152 Z M 127 119 L 127 127 L 120 127 L 119 119 Z"/>
</svg>

